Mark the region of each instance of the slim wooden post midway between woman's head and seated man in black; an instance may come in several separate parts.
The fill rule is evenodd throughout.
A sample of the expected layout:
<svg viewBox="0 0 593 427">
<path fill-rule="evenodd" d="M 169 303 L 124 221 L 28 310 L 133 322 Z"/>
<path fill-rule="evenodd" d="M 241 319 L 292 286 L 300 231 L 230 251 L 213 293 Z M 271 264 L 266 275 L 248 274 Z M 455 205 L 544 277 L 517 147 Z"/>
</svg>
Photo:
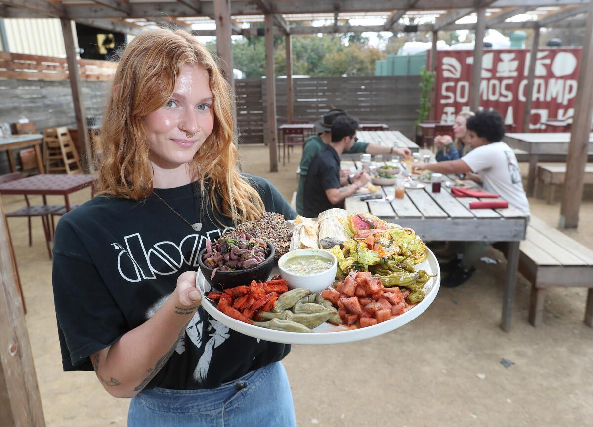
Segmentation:
<svg viewBox="0 0 593 427">
<path fill-rule="evenodd" d="M 266 37 L 267 140 L 270 172 L 278 172 L 278 130 L 276 129 L 276 76 L 274 75 L 274 27 L 272 15 L 264 15 Z"/>
</svg>

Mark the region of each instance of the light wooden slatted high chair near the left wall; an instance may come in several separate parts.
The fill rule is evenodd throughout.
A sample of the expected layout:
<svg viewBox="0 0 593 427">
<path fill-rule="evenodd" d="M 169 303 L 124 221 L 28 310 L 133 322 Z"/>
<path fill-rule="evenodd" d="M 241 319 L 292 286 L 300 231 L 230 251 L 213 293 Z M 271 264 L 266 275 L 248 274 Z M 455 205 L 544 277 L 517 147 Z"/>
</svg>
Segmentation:
<svg viewBox="0 0 593 427">
<path fill-rule="evenodd" d="M 78 151 L 66 127 L 43 131 L 43 153 L 47 173 L 82 172 Z"/>
</svg>

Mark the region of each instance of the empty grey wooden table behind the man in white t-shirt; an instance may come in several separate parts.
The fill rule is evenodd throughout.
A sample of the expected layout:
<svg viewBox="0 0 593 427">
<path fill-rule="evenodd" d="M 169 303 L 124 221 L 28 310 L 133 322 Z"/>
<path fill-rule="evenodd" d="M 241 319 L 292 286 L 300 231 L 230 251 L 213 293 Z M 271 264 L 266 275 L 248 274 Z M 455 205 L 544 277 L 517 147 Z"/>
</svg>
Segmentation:
<svg viewBox="0 0 593 427">
<path fill-rule="evenodd" d="M 502 140 L 511 148 L 522 150 L 527 153 L 529 159 L 529 172 L 527 174 L 527 196 L 533 196 L 535 189 L 535 174 L 537 173 L 537 162 L 543 157 L 560 157 L 566 161 L 568 144 L 570 143 L 569 132 L 528 132 L 508 133 Z M 589 134 L 589 155 L 593 154 L 593 133 Z M 549 160 L 549 159 L 547 159 Z"/>
</svg>

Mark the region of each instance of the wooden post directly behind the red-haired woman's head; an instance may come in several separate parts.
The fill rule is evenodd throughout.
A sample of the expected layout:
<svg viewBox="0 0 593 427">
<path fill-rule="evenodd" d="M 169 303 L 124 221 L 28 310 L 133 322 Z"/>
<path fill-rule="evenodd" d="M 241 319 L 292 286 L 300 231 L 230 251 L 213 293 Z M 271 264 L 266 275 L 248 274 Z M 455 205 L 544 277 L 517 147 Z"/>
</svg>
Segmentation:
<svg viewBox="0 0 593 427">
<path fill-rule="evenodd" d="M 235 76 L 232 74 L 232 25 L 231 0 L 214 0 L 216 18 L 216 50 L 219 67 L 232 90 L 232 116 L 237 130 L 237 100 L 235 99 Z"/>
</svg>

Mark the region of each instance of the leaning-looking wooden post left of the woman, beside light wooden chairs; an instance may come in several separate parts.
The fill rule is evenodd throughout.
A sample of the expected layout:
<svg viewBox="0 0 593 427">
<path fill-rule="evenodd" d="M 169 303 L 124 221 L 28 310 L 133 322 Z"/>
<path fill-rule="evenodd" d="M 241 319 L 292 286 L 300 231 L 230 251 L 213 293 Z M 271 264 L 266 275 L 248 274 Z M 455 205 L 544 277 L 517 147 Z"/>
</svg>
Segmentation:
<svg viewBox="0 0 593 427">
<path fill-rule="evenodd" d="M 64 38 L 64 47 L 66 48 L 66 62 L 68 62 L 68 77 L 72 90 L 72 101 L 74 102 L 76 130 L 78 130 L 78 138 L 81 141 L 82 147 L 85 147 L 86 152 L 84 156 L 80 156 L 82 167 L 93 173 L 95 172 L 93 149 L 91 148 L 91 141 L 88 135 L 87 114 L 84 108 L 84 101 L 82 100 L 82 87 L 80 76 L 78 75 L 78 62 L 76 61 L 72 24 L 68 18 L 60 18 L 60 23 L 62 24 L 62 37 Z"/>
</svg>

